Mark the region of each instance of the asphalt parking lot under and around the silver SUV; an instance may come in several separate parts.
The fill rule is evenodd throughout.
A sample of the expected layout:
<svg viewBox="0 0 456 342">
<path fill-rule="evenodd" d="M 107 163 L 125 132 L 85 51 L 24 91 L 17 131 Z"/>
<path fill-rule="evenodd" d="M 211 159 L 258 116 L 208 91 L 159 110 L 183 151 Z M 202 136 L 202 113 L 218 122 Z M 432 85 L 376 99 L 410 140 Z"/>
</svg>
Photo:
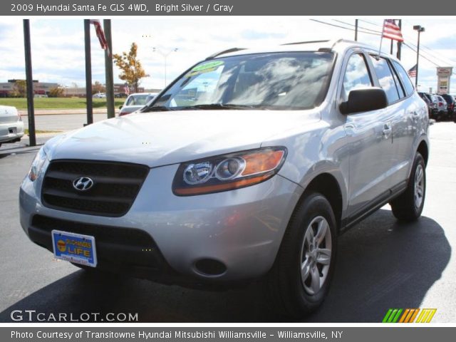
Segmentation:
<svg viewBox="0 0 456 342">
<path fill-rule="evenodd" d="M 398 224 L 385 206 L 343 234 L 330 294 L 303 321 L 376 323 L 389 308 L 420 307 L 437 309 L 433 322 L 456 322 L 456 124 L 436 123 L 430 136 L 423 217 Z M 138 313 L 144 322 L 284 321 L 269 309 L 257 284 L 199 291 L 90 276 L 53 259 L 28 241 L 19 224 L 19 185 L 35 153 L 32 147 L 0 149 L 1 322 L 11 321 L 11 311 L 18 309 Z"/>
</svg>

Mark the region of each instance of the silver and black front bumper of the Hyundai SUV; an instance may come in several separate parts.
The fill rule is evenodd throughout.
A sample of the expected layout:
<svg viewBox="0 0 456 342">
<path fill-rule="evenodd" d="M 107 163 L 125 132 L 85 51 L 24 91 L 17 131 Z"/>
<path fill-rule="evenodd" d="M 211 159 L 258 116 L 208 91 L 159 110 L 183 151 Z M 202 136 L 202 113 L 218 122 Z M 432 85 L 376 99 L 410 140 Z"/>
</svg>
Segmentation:
<svg viewBox="0 0 456 342">
<path fill-rule="evenodd" d="M 44 171 L 35 182 L 26 177 L 20 192 L 21 225 L 32 241 L 50 250 L 49 229 L 71 232 L 75 224 L 85 225 L 82 234 L 89 235 L 90 227 L 101 227 L 114 235 L 125 229 L 147 233 L 150 239 L 141 240 L 144 244 L 132 245 L 128 236 L 113 244 L 97 237 L 94 230 L 98 267 L 108 271 L 178 283 L 182 281 L 175 279 L 230 282 L 266 274 L 279 251 L 301 188 L 276 175 L 239 190 L 177 197 L 171 190 L 177 167 L 152 168 L 123 217 L 99 217 L 44 207 L 39 196 Z M 50 218 L 46 222 L 56 222 L 58 227 L 37 228 L 37 217 Z M 44 232 L 46 229 L 48 232 Z M 196 264 L 207 259 L 219 261 L 226 270 L 220 274 L 202 272 Z M 145 260 L 150 262 L 140 262 Z"/>
</svg>

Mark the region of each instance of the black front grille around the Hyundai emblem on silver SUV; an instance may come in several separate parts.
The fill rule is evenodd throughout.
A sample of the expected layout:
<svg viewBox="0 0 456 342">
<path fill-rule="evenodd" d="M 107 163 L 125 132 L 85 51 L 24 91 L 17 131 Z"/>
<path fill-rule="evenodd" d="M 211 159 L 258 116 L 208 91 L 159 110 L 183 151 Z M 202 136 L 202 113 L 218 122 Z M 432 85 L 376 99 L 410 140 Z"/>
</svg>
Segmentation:
<svg viewBox="0 0 456 342">
<path fill-rule="evenodd" d="M 99 216 L 128 212 L 149 168 L 145 165 L 88 160 L 56 160 L 44 175 L 41 199 L 46 207 Z M 93 187 L 79 191 L 73 181 L 89 177 Z"/>
</svg>

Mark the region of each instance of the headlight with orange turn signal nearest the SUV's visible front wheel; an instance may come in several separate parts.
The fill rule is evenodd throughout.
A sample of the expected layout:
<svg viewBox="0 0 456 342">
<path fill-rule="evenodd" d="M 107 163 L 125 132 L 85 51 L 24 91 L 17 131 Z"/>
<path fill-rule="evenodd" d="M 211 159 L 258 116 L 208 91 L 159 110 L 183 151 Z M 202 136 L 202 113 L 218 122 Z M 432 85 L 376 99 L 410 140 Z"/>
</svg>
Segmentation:
<svg viewBox="0 0 456 342">
<path fill-rule="evenodd" d="M 285 147 L 267 147 L 185 162 L 177 169 L 172 192 L 192 196 L 249 187 L 279 172 L 285 158 Z"/>
</svg>

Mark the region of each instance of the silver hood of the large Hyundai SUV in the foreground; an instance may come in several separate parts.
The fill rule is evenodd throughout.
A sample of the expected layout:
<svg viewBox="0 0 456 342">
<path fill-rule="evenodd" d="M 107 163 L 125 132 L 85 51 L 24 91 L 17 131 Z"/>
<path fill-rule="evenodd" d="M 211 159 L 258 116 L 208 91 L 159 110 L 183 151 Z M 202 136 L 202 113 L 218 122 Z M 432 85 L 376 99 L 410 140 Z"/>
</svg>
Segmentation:
<svg viewBox="0 0 456 342">
<path fill-rule="evenodd" d="M 46 143 L 50 160 L 135 162 L 157 167 L 261 146 L 266 138 L 320 120 L 314 110 L 187 110 L 103 120 Z"/>
</svg>

